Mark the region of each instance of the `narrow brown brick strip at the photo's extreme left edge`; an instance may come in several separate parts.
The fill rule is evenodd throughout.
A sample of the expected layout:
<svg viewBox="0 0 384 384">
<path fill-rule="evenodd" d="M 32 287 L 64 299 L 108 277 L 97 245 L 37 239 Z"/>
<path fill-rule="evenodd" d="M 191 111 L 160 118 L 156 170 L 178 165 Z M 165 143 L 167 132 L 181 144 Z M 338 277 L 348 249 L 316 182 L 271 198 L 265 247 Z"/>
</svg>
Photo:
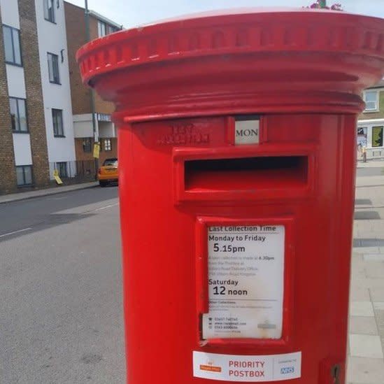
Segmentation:
<svg viewBox="0 0 384 384">
<path fill-rule="evenodd" d="M 0 194 L 16 189 L 15 155 L 13 136 L 10 125 L 10 109 L 6 64 L 4 63 L 3 29 L 1 28 L 0 10 Z"/>
</svg>

